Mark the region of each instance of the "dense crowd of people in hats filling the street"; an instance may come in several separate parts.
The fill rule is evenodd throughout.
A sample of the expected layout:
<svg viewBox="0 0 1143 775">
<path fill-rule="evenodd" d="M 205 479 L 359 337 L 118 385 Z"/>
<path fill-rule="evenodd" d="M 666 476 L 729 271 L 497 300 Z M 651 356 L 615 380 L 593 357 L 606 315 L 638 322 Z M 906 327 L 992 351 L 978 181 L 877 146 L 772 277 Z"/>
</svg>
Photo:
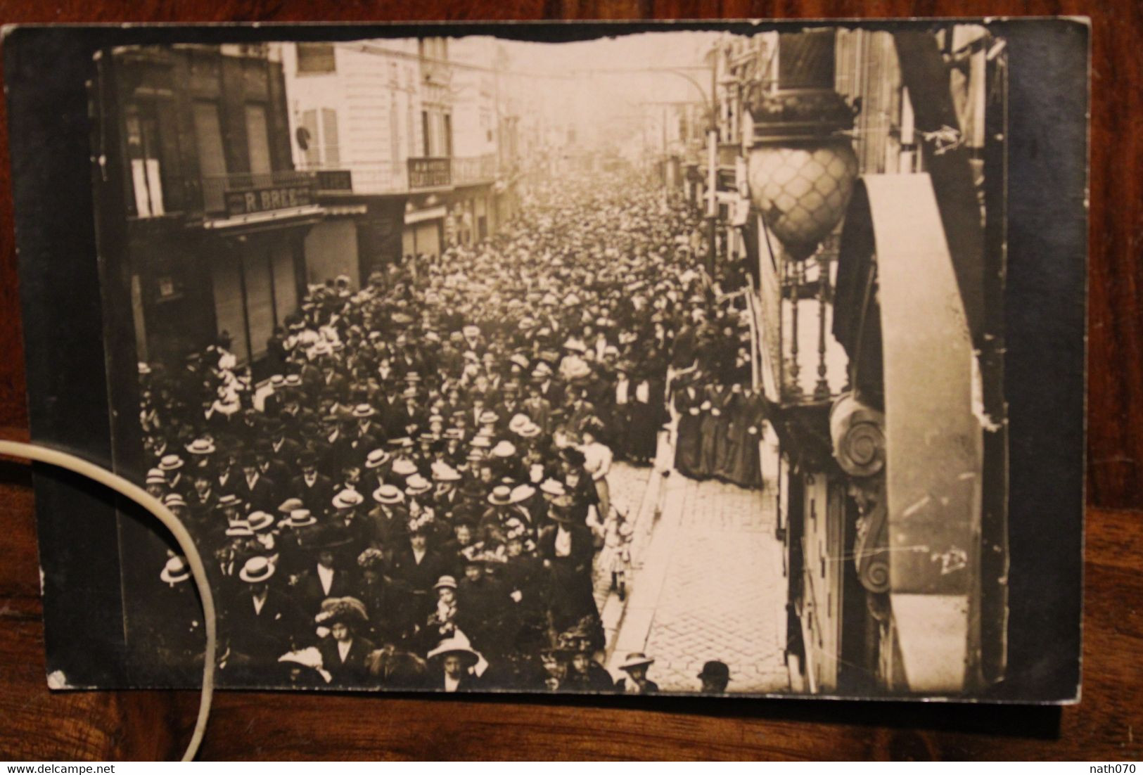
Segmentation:
<svg viewBox="0 0 1143 775">
<path fill-rule="evenodd" d="M 224 682 L 653 692 L 653 658 L 598 662 L 634 517 L 613 462 L 677 429 L 685 476 L 761 484 L 743 280 L 700 233 L 649 185 L 561 182 L 475 245 L 310 287 L 261 385 L 225 335 L 141 363 L 146 486 L 207 558 Z M 182 557 L 158 575 L 190 593 Z M 154 630 L 201 655 L 197 622 Z"/>
</svg>

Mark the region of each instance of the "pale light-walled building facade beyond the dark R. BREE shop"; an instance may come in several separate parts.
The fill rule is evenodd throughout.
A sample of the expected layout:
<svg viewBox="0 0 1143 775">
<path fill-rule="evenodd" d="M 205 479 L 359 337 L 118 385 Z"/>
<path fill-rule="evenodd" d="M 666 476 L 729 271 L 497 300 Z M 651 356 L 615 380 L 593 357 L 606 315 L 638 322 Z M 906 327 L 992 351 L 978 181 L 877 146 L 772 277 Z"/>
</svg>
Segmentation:
<svg viewBox="0 0 1143 775">
<path fill-rule="evenodd" d="M 480 38 L 285 46 L 295 162 L 328 214 L 306 240 L 307 281 L 360 286 L 510 217 L 515 123 L 498 106 L 496 54 Z"/>
</svg>

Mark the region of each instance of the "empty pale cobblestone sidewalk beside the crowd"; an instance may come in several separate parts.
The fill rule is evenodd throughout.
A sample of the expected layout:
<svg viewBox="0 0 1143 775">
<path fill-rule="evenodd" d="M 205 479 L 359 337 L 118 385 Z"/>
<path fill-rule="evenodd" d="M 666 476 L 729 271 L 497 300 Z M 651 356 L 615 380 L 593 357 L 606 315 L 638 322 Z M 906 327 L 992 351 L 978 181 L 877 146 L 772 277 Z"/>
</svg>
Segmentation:
<svg viewBox="0 0 1143 775">
<path fill-rule="evenodd" d="M 645 650 L 656 660 L 649 677 L 665 692 L 697 690 L 706 660 L 729 665 L 729 692 L 786 689 L 773 489 L 672 473 L 664 502 L 615 637 L 613 672 L 626 652 Z"/>
</svg>

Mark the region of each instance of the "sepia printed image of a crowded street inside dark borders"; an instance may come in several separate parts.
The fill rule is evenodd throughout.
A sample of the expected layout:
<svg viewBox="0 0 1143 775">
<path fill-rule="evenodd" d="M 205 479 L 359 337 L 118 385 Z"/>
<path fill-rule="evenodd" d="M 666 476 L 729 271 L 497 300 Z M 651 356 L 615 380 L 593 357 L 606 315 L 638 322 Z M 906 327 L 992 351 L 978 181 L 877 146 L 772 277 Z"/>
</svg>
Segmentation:
<svg viewBox="0 0 1143 775">
<path fill-rule="evenodd" d="M 91 58 L 111 456 L 218 685 L 1013 698 L 1002 31 L 597 26 Z M 193 686 L 115 541 L 117 680 Z"/>
</svg>

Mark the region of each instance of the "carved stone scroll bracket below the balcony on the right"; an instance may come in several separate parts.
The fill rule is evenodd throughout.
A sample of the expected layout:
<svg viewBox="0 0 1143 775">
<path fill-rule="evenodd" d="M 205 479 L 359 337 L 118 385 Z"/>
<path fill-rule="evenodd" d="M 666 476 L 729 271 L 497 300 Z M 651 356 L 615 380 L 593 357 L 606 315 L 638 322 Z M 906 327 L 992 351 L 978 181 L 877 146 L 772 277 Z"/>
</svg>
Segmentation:
<svg viewBox="0 0 1143 775">
<path fill-rule="evenodd" d="M 830 438 L 833 457 L 849 476 L 849 493 L 861 512 L 854 541 L 857 577 L 870 592 L 888 592 L 885 415 L 845 393 L 830 410 Z"/>
</svg>

